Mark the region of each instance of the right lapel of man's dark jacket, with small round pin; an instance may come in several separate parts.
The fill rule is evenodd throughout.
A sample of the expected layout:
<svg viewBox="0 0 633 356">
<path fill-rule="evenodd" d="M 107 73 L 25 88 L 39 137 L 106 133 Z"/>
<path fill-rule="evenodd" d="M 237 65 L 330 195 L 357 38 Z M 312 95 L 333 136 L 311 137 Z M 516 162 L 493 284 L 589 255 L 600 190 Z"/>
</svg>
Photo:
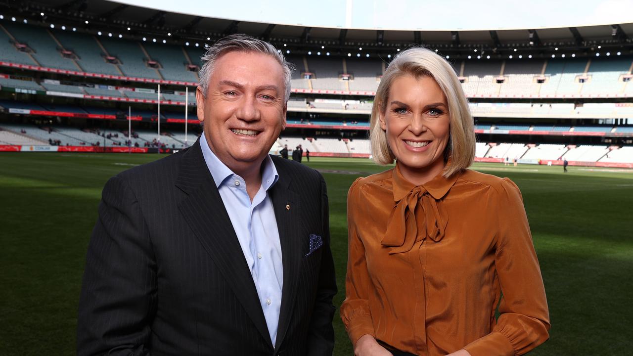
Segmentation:
<svg viewBox="0 0 633 356">
<path fill-rule="evenodd" d="M 292 310 L 297 296 L 299 281 L 299 265 L 303 257 L 301 244 L 301 200 L 299 194 L 289 189 L 291 179 L 282 172 L 280 165 L 279 181 L 270 189 L 270 198 L 275 210 L 275 220 L 279 230 L 279 240 L 282 250 L 282 264 L 284 269 L 284 285 L 282 287 L 281 309 L 277 326 L 277 341 L 275 351 L 284 340 L 285 333 L 292 317 Z"/>
</svg>

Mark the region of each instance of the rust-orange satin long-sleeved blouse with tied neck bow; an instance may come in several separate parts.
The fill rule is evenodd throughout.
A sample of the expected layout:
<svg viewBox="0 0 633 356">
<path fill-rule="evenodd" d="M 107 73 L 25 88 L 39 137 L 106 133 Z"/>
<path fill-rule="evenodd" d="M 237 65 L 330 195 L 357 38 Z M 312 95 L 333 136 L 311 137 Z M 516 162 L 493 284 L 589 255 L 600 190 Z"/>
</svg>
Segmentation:
<svg viewBox="0 0 633 356">
<path fill-rule="evenodd" d="M 341 318 L 354 344 L 370 334 L 416 355 L 496 356 L 548 339 L 539 262 L 510 179 L 464 170 L 415 186 L 396 165 L 352 184 L 348 229 Z"/>
</svg>

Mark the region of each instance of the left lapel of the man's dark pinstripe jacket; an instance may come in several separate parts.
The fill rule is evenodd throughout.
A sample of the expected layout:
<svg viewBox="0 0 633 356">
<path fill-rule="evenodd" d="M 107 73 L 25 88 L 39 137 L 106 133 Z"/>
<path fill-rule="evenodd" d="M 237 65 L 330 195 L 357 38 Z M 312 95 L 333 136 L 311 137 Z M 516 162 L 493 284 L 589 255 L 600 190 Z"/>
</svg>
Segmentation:
<svg viewBox="0 0 633 356">
<path fill-rule="evenodd" d="M 225 276 L 225 280 L 264 340 L 268 340 L 272 347 L 253 276 L 246 264 L 244 252 L 239 245 L 222 197 L 204 162 L 199 141 L 184 155 L 176 185 L 189 196 L 180 203 L 180 212 L 211 260 Z"/>
</svg>

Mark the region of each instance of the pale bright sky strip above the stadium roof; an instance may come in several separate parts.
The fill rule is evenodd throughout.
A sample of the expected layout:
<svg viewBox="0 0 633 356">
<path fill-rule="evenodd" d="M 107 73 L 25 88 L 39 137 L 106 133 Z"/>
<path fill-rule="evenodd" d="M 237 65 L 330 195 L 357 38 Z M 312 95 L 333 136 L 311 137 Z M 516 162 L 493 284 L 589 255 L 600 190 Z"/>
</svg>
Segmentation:
<svg viewBox="0 0 633 356">
<path fill-rule="evenodd" d="M 633 22 L 632 0 L 115 0 L 174 13 L 310 27 L 540 29 Z"/>
</svg>

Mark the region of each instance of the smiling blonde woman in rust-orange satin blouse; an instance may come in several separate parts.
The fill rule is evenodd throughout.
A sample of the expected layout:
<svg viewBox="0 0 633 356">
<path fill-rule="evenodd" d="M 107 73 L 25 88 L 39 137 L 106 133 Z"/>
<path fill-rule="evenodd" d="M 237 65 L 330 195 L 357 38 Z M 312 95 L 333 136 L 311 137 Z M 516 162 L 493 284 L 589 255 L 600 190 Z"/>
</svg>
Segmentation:
<svg viewBox="0 0 633 356">
<path fill-rule="evenodd" d="M 380 81 L 370 138 L 373 159 L 396 167 L 349 189 L 341 317 L 354 353 L 522 355 L 547 340 L 521 193 L 467 169 L 475 136 L 453 68 L 428 49 L 399 54 Z"/>
</svg>

